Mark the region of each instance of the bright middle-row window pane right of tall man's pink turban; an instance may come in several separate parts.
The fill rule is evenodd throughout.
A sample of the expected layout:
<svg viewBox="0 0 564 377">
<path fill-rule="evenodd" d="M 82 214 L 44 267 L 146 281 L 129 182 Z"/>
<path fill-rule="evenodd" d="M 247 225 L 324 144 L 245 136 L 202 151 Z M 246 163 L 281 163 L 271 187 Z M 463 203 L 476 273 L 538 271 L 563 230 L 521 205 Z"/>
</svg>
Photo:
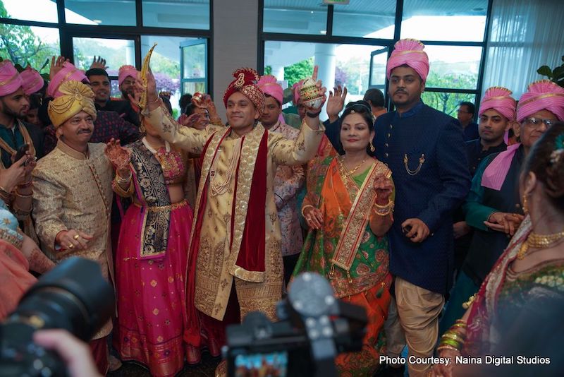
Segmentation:
<svg viewBox="0 0 564 377">
<path fill-rule="evenodd" d="M 427 88 L 476 89 L 482 47 L 429 46 Z"/>
</svg>

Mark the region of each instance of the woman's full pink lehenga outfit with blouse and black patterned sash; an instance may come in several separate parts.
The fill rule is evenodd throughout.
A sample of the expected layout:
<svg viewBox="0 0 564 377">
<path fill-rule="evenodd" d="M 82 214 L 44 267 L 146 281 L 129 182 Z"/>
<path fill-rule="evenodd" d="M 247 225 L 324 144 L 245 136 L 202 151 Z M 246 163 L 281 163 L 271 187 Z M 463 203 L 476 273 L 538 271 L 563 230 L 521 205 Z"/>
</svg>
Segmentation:
<svg viewBox="0 0 564 377">
<path fill-rule="evenodd" d="M 168 147 L 168 145 L 167 145 Z M 118 318 L 114 347 L 121 359 L 145 364 L 153 376 L 184 366 L 185 271 L 192 225 L 188 201 L 171 203 L 168 184 L 185 179 L 176 150 L 153 153 L 130 145 L 132 184 L 118 195 L 133 198 L 121 224 L 116 253 Z"/>
</svg>

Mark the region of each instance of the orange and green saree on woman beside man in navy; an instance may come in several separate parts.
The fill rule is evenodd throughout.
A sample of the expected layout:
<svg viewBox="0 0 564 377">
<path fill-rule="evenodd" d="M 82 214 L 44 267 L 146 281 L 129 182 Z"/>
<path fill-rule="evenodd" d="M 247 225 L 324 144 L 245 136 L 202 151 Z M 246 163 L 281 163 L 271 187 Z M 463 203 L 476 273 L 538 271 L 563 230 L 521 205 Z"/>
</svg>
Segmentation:
<svg viewBox="0 0 564 377">
<path fill-rule="evenodd" d="M 362 351 L 341 354 L 336 358 L 336 366 L 341 376 L 372 376 L 379 366 L 379 355 L 385 352 L 382 328 L 388 316 L 390 304 L 391 275 L 388 273 L 388 239 L 377 238 L 369 225 L 362 229 L 351 227 L 351 217 L 369 220 L 372 205 L 362 205 L 357 196 L 372 195 L 374 189 L 369 180 L 389 170 L 381 162 L 351 179 L 339 171 L 336 158 L 317 160 L 307 177 L 307 196 L 305 205 L 314 205 L 323 213 L 324 224 L 321 229 L 310 230 L 304 249 L 294 270 L 294 275 L 304 271 L 317 272 L 329 279 L 335 296 L 352 304 L 363 306 L 367 311 L 367 335 L 364 337 Z M 369 190 L 369 191 L 365 191 Z M 320 195 L 319 195 L 320 194 Z M 374 203 L 374 198 L 369 202 Z M 364 223 L 363 223 L 364 224 Z M 357 239 L 357 248 L 350 258 L 336 258 L 338 249 L 347 253 L 347 245 L 340 246 L 344 236 L 343 228 L 348 229 Z M 350 237 L 349 234 L 347 237 Z M 338 267 L 336 260 L 351 259 L 348 271 Z M 291 288 L 290 288 L 291 289 Z"/>
</svg>

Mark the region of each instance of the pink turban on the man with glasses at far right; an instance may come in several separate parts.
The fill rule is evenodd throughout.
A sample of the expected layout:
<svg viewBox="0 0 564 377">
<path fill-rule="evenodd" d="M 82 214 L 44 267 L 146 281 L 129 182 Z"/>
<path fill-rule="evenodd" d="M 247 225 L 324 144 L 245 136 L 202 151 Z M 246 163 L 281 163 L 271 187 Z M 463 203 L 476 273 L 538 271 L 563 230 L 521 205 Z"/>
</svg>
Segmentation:
<svg viewBox="0 0 564 377">
<path fill-rule="evenodd" d="M 517 104 L 517 121 L 545 109 L 564 121 L 564 88 L 551 80 L 539 80 L 529 84 L 527 90 Z"/>
</svg>

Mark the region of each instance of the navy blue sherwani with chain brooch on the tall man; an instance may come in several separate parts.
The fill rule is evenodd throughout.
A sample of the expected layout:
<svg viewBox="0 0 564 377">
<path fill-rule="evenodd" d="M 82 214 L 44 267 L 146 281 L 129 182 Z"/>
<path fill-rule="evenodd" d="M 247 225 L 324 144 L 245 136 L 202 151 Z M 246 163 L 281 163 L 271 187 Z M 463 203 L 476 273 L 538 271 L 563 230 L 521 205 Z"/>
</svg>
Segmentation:
<svg viewBox="0 0 564 377">
<path fill-rule="evenodd" d="M 335 124 L 326 128 L 333 145 L 339 136 Z M 374 128 L 376 157 L 391 169 L 396 186 L 394 221 L 388 232 L 390 271 L 414 285 L 446 294 L 453 279 L 453 212 L 470 189 L 462 128 L 456 119 L 423 102 L 401 116 L 382 114 Z M 401 228 L 414 217 L 430 231 L 418 244 L 407 239 Z"/>
</svg>

